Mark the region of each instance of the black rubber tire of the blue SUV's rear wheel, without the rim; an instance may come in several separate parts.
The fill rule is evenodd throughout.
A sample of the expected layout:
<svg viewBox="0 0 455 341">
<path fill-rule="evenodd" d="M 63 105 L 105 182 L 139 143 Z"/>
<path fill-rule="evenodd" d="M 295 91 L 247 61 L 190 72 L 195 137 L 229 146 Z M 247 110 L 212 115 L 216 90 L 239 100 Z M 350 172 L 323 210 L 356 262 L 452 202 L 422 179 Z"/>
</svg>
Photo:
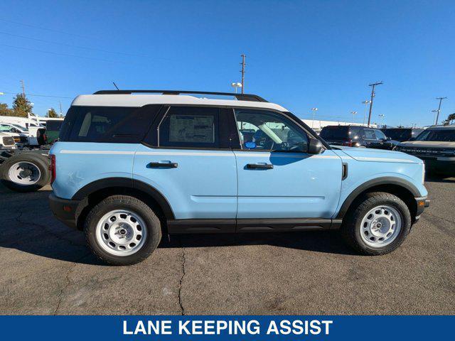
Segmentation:
<svg viewBox="0 0 455 341">
<path fill-rule="evenodd" d="M 130 210 L 145 222 L 146 241 L 134 254 L 117 256 L 103 249 L 96 238 L 96 228 L 101 218 L 112 210 Z M 146 203 L 128 195 L 112 195 L 102 200 L 90 210 L 84 227 L 87 244 L 93 253 L 110 265 L 132 265 L 144 261 L 161 241 L 161 222 Z"/>
</svg>

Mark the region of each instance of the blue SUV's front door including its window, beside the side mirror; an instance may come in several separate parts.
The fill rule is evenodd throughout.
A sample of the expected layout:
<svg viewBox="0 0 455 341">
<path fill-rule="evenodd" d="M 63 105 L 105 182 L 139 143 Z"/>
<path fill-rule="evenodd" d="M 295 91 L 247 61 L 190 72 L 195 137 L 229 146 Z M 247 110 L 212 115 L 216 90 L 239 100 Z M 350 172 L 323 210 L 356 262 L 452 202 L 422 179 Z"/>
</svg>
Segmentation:
<svg viewBox="0 0 455 341">
<path fill-rule="evenodd" d="M 239 222 L 330 219 L 340 195 L 341 158 L 331 150 L 319 155 L 307 153 L 309 136 L 284 114 L 235 109 L 235 119 L 241 144 L 241 149 L 234 152 Z"/>
</svg>

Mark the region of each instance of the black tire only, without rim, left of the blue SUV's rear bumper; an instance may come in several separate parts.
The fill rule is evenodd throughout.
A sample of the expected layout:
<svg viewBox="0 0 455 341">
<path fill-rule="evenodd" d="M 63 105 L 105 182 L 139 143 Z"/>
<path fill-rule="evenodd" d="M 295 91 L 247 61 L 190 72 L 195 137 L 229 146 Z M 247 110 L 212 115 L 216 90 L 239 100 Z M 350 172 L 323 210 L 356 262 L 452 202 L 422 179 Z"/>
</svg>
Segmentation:
<svg viewBox="0 0 455 341">
<path fill-rule="evenodd" d="M 9 169 L 18 162 L 28 162 L 36 166 L 40 171 L 40 178 L 33 185 L 20 185 L 15 183 L 11 178 L 9 178 Z M 4 163 L 0 166 L 0 178 L 1 183 L 3 183 L 10 190 L 15 190 L 16 192 L 33 192 L 43 188 L 50 181 L 50 171 L 49 171 L 50 161 L 47 157 L 41 156 L 37 153 L 18 153 L 16 155 L 7 158 Z"/>
</svg>

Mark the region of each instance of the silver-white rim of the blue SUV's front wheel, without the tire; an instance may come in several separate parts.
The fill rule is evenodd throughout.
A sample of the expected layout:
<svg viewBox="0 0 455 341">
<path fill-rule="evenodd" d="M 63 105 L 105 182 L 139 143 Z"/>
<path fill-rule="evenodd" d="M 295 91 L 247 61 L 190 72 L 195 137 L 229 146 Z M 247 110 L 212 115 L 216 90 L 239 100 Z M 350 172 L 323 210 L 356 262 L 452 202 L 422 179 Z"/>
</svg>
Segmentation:
<svg viewBox="0 0 455 341">
<path fill-rule="evenodd" d="M 370 210 L 360 224 L 360 236 L 370 247 L 385 247 L 397 239 L 402 228 L 400 212 L 389 205 Z"/>
</svg>

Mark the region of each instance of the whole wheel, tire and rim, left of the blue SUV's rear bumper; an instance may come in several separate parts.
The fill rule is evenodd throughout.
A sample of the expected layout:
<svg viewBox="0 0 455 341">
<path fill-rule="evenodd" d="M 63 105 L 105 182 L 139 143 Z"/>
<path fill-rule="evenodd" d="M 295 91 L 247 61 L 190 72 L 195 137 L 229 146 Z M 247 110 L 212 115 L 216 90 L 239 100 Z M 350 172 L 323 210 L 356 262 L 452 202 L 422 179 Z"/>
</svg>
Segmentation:
<svg viewBox="0 0 455 341">
<path fill-rule="evenodd" d="M 17 153 L 0 166 L 0 178 L 10 190 L 33 192 L 50 181 L 50 161 L 38 153 Z"/>
</svg>

